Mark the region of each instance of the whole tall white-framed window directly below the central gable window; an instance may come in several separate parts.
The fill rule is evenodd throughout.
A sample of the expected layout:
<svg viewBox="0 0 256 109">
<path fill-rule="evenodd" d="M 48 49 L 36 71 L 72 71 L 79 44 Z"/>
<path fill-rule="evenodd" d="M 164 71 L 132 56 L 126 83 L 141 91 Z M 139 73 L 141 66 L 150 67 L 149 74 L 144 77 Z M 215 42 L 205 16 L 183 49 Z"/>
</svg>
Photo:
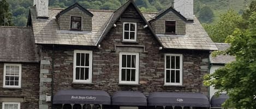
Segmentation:
<svg viewBox="0 0 256 109">
<path fill-rule="evenodd" d="M 139 53 L 119 54 L 119 83 L 139 84 Z"/>
</svg>

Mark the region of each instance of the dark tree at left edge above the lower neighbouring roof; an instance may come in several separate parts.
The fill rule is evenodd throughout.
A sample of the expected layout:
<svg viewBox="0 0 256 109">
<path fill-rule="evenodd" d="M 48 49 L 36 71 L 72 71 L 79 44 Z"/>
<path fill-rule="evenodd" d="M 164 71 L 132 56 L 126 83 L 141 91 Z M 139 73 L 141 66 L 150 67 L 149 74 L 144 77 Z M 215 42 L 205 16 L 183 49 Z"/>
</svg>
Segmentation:
<svg viewBox="0 0 256 109">
<path fill-rule="evenodd" d="M 0 25 L 13 25 L 9 4 L 6 0 L 0 1 Z"/>
</svg>

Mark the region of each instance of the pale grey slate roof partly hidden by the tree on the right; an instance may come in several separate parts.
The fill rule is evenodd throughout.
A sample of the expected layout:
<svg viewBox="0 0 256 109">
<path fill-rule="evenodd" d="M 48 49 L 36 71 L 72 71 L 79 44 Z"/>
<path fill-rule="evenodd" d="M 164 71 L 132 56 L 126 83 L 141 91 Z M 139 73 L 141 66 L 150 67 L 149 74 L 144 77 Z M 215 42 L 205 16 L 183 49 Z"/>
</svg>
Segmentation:
<svg viewBox="0 0 256 109">
<path fill-rule="evenodd" d="M 227 50 L 230 47 L 230 44 L 228 43 L 215 43 L 216 47 L 218 50 Z M 235 61 L 236 57 L 235 56 L 230 56 L 230 55 L 217 55 L 216 57 L 212 57 L 210 55 L 210 62 L 215 63 L 215 64 L 225 64 L 229 63 L 232 61 Z"/>
</svg>

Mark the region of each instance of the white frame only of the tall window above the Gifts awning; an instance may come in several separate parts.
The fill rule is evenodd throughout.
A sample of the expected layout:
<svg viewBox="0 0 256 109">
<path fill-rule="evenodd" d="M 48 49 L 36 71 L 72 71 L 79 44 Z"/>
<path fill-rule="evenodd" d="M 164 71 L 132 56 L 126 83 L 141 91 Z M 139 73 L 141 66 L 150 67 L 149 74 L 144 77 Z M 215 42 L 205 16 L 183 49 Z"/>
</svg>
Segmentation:
<svg viewBox="0 0 256 109">
<path fill-rule="evenodd" d="M 171 82 L 171 78 L 170 78 L 170 82 L 166 82 L 166 56 L 170 56 L 170 60 L 171 60 L 171 56 L 180 56 L 180 83 L 172 83 Z M 175 65 L 176 65 L 176 61 L 175 61 Z M 171 62 L 170 62 L 170 66 L 171 66 Z M 171 70 L 176 70 L 169 68 L 170 73 Z M 171 74 L 170 74 L 171 75 Z M 175 73 L 176 75 L 176 73 Z M 176 77 L 175 77 L 176 78 Z M 171 85 L 171 86 L 182 86 L 183 85 L 183 55 L 182 54 L 164 54 L 164 85 Z"/>
</svg>

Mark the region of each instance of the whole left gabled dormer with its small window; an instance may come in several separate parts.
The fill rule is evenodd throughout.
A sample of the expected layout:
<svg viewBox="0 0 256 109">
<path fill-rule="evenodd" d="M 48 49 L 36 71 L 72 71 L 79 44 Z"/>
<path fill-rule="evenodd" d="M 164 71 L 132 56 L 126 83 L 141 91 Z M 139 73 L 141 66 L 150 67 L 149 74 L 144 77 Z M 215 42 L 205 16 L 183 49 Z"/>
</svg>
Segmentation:
<svg viewBox="0 0 256 109">
<path fill-rule="evenodd" d="M 60 30 L 92 31 L 93 14 L 78 3 L 62 10 L 56 15 Z"/>
</svg>

